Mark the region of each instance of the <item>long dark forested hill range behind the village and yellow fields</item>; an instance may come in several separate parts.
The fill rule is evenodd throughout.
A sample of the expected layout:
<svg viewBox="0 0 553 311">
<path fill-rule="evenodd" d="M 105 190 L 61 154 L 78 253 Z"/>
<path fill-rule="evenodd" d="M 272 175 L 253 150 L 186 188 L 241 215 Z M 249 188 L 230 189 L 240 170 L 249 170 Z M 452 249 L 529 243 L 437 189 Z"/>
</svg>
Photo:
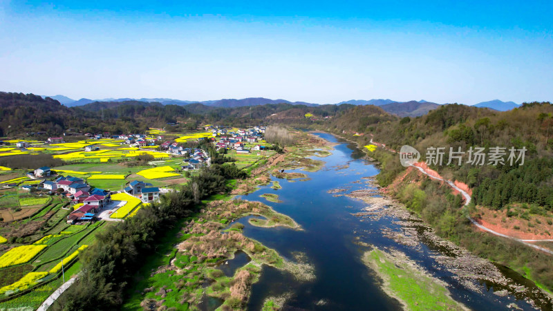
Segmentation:
<svg viewBox="0 0 553 311">
<path fill-rule="evenodd" d="M 44 136 L 75 133 L 143 133 L 149 127 L 196 129 L 202 122 L 229 126 L 279 121 L 309 124 L 315 119 L 333 117 L 353 107 L 350 104 L 306 106 L 303 104 L 264 104 L 222 108 L 205 104 L 179 106 L 136 100 L 92 102 L 83 106 L 62 106 L 50 97 L 23 93 L 0 93 L 0 137 L 44 132 Z"/>
</svg>

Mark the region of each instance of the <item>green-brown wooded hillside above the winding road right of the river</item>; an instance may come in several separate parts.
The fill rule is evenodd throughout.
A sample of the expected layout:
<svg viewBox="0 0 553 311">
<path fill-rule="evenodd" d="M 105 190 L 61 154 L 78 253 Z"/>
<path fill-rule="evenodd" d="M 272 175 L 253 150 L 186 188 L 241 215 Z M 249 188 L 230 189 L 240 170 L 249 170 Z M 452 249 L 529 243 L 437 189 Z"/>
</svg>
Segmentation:
<svg viewBox="0 0 553 311">
<path fill-rule="evenodd" d="M 553 211 L 553 105 L 549 102 L 526 103 L 503 112 L 450 104 L 415 118 L 391 118 L 374 107 L 357 106 L 323 126 L 350 135 L 362 145 L 373 139 L 395 150 L 404 144 L 413 146 L 423 161 L 429 147 L 444 147 L 443 164 L 431 168 L 446 178 L 466 182 L 474 189 L 476 204 L 501 209 L 522 202 Z M 450 147 L 465 151 L 461 165 L 447 165 Z M 479 165 L 467 163 L 470 147 L 484 147 L 485 153 L 491 147 L 504 147 L 504 158 L 511 147 L 527 151 L 521 166 L 489 165 L 488 158 L 485 165 Z M 382 185 L 403 169 L 399 159 L 393 160 L 384 168 Z"/>
</svg>

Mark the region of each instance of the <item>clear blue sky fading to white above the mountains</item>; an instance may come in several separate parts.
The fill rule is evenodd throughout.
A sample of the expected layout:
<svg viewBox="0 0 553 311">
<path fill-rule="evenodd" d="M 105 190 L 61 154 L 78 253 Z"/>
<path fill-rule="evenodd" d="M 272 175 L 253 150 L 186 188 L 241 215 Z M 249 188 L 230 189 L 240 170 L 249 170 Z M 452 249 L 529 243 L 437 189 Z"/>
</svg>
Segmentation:
<svg viewBox="0 0 553 311">
<path fill-rule="evenodd" d="M 156 2 L 0 0 L 0 91 L 553 100 L 553 1 Z"/>
</svg>

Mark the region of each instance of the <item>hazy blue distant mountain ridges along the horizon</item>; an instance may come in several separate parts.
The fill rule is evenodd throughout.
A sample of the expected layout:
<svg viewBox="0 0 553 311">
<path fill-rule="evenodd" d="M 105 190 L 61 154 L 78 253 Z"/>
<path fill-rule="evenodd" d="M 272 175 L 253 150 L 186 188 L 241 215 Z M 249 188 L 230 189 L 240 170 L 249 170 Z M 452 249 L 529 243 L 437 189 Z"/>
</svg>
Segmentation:
<svg viewBox="0 0 553 311">
<path fill-rule="evenodd" d="M 43 96 L 45 97 L 45 96 Z M 61 104 L 64 104 L 68 107 L 75 107 L 75 106 L 84 106 L 87 104 L 92 104 L 95 102 L 104 102 L 104 103 L 111 103 L 111 104 L 102 104 L 102 105 L 95 105 L 95 107 L 100 108 L 104 106 L 116 106 L 115 103 L 118 102 L 133 102 L 135 104 L 138 104 L 138 102 L 147 102 L 147 103 L 160 103 L 162 105 L 168 105 L 168 104 L 174 104 L 178 106 L 186 106 L 189 104 L 202 104 L 204 106 L 210 106 L 210 107 L 216 107 L 216 108 L 234 108 L 234 107 L 241 107 L 241 106 L 259 106 L 263 104 L 302 104 L 306 106 L 318 106 L 319 104 L 315 103 L 308 103 L 308 102 L 290 102 L 288 100 L 270 100 L 268 98 L 263 97 L 248 97 L 243 98 L 241 100 L 236 99 L 223 99 L 223 100 L 206 100 L 206 101 L 191 101 L 191 100 L 174 100 L 171 98 L 140 98 L 140 99 L 133 99 L 133 98 L 105 98 L 102 100 L 90 100 L 88 98 L 82 98 L 80 100 L 73 100 L 69 97 L 66 97 L 64 95 L 55 95 L 50 96 L 54 100 L 58 100 Z M 348 100 L 344 102 L 337 103 L 340 104 L 352 104 L 355 106 L 359 105 L 375 105 L 380 106 L 384 111 L 387 111 L 388 113 L 394 113 L 395 115 L 399 115 L 400 117 L 417 117 L 420 115 L 425 115 L 432 109 L 436 109 L 440 104 L 436 104 L 433 102 L 428 102 L 426 100 L 411 100 L 409 102 L 397 102 L 395 100 L 390 99 L 373 99 L 373 100 Z M 474 106 L 477 107 L 487 107 L 489 109 L 494 109 L 497 111 L 507 111 L 514 109 L 518 107 L 519 105 L 514 102 L 502 102 L 500 100 L 491 100 L 489 102 L 480 102 L 478 104 L 475 104 Z M 90 109 L 90 107 L 87 107 L 87 110 Z"/>
</svg>

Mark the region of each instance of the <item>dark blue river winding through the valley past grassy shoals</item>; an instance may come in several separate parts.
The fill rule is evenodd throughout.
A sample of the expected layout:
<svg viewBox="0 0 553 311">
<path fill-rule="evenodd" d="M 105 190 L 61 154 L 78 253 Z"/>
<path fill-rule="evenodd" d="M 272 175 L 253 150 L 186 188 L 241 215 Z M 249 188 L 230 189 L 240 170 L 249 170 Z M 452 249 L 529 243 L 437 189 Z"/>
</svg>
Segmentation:
<svg viewBox="0 0 553 311">
<path fill-rule="evenodd" d="M 292 217 L 303 227 L 296 231 L 283 227 L 262 228 L 247 223 L 247 218 L 237 220 L 245 225 L 244 234 L 264 245 L 274 248 L 284 258 L 294 261 L 297 252 L 315 266 L 315 281 L 302 283 L 294 280 L 287 272 L 272 267 L 263 267 L 261 279 L 252 286 L 248 310 L 261 310 L 268 296 L 287 296 L 285 310 L 397 310 L 401 305 L 390 298 L 381 288 L 379 279 L 362 263 L 362 254 L 370 249 L 359 242 L 374 245 L 380 249 L 394 248 L 404 252 L 411 260 L 435 278 L 447 283 L 451 297 L 474 310 L 507 309 L 516 303 L 525 310 L 534 310 L 521 295 L 494 294 L 498 285 L 480 282 L 475 288 L 467 288 L 448 270 L 430 256 L 445 250 L 422 242 L 417 246 L 396 243 L 382 235 L 382 228 L 399 231 L 400 225 L 393 223 L 393 216 L 377 220 L 357 218 L 352 214 L 367 207 L 365 202 L 329 194 L 330 189 L 347 188 L 348 192 L 366 189 L 362 177 L 375 176 L 379 170 L 364 159 L 364 153 L 354 144 L 327 133 L 317 133 L 320 138 L 337 145 L 332 154 L 320 158 L 326 162 L 323 169 L 306 173 L 310 180 L 290 182 L 278 180 L 282 189 L 261 187 L 253 194 L 239 196 L 245 200 L 259 200 L 276 211 Z M 314 157 L 315 159 L 319 159 Z M 348 165 L 347 168 L 344 168 Z M 278 194 L 283 202 L 274 203 L 260 198 L 262 194 Z M 522 279 L 511 270 L 501 268 L 511 279 L 516 279 L 527 288 L 534 285 Z M 535 289 L 535 287 L 534 287 Z M 536 297 L 532 297 L 536 298 Z M 550 305 L 538 305 L 544 310 Z"/>
</svg>

